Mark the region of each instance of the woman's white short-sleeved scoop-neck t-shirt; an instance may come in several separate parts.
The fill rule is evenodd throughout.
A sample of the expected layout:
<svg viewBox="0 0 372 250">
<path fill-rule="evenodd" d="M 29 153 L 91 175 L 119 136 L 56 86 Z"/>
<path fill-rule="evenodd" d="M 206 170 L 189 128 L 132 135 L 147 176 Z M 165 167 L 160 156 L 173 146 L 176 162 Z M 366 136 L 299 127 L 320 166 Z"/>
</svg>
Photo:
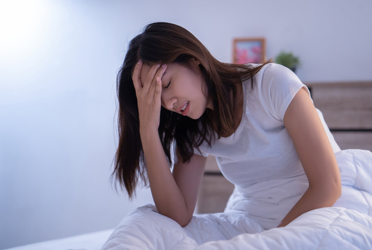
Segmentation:
<svg viewBox="0 0 372 250">
<path fill-rule="evenodd" d="M 292 70 L 276 63 L 263 66 L 253 77 L 252 90 L 251 79 L 243 82 L 243 116 L 235 133 L 216 139 L 212 148 L 204 141 L 199 148 L 202 155 L 214 155 L 225 178 L 240 187 L 304 174 L 293 141 L 283 123 L 289 103 L 302 87 L 310 95 L 307 86 Z M 333 151 L 340 151 L 323 115 L 319 109 L 317 112 Z M 200 154 L 196 149 L 194 153 Z"/>
</svg>

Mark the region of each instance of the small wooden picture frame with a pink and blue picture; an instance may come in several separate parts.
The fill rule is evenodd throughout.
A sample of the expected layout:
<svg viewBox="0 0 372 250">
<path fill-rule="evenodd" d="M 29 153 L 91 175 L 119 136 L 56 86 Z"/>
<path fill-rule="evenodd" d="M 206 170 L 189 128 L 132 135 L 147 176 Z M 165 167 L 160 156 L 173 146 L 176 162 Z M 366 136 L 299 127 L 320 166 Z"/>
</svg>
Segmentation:
<svg viewBox="0 0 372 250">
<path fill-rule="evenodd" d="M 232 63 L 261 63 L 266 56 L 264 37 L 235 38 L 232 43 Z"/>
</svg>

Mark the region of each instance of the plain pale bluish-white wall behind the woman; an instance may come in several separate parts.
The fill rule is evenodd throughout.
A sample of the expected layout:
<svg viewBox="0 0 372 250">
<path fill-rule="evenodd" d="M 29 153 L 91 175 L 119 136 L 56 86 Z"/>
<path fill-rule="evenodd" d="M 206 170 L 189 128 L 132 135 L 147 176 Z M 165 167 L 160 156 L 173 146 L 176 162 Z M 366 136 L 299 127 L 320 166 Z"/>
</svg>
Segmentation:
<svg viewBox="0 0 372 250">
<path fill-rule="evenodd" d="M 263 36 L 268 58 L 300 56 L 303 82 L 372 79 L 369 0 L 18 2 L 0 3 L 0 249 L 113 228 L 153 203 L 109 182 L 116 73 L 147 23 L 185 27 L 223 62 L 233 37 Z"/>
</svg>

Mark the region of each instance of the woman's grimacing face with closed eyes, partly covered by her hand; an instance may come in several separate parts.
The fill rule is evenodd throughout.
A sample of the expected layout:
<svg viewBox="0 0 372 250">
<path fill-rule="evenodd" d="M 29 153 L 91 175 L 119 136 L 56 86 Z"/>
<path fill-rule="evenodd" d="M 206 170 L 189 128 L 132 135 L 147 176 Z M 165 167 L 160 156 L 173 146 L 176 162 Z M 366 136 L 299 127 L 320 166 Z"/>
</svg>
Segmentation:
<svg viewBox="0 0 372 250">
<path fill-rule="evenodd" d="M 205 109 L 211 109 L 212 105 L 202 91 L 203 76 L 198 66 L 199 62 L 194 59 L 189 62 L 192 69 L 178 63 L 167 64 L 167 68 L 161 77 L 161 106 L 177 112 L 187 103 L 184 114 L 188 109 L 186 115 L 192 119 L 198 119 Z M 153 64 L 142 64 L 140 73 L 142 86 L 152 66 Z M 178 113 L 182 114 L 182 111 Z"/>
</svg>

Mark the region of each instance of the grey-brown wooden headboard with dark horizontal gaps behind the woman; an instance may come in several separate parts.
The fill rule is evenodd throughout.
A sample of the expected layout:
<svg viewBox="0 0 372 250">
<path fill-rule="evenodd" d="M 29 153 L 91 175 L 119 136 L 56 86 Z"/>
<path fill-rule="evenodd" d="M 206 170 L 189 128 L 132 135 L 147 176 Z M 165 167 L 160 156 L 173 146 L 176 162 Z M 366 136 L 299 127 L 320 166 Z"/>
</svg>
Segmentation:
<svg viewBox="0 0 372 250">
<path fill-rule="evenodd" d="M 341 150 L 372 151 L 372 81 L 304 84 Z M 233 189 L 234 185 L 219 171 L 215 157 L 209 155 L 196 212 L 223 212 Z"/>
</svg>

